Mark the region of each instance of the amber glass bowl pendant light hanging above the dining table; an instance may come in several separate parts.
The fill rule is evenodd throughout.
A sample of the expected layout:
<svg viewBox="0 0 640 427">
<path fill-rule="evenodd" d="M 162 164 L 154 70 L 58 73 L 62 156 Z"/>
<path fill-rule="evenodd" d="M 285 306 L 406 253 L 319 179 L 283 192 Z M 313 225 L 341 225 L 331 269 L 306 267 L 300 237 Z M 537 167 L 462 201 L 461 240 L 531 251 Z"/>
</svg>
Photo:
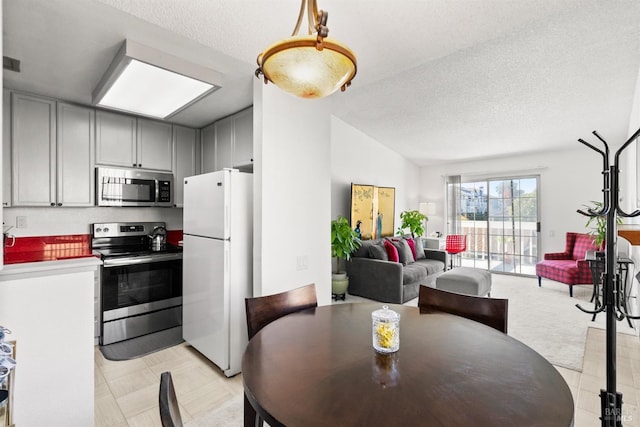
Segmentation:
<svg viewBox="0 0 640 427">
<path fill-rule="evenodd" d="M 308 35 L 298 35 L 305 10 Z M 301 98 L 323 98 L 344 91 L 356 75 L 356 56 L 342 43 L 327 37 L 328 13 L 319 11 L 316 0 L 301 0 L 298 22 L 291 37 L 258 55 L 256 77 L 265 84 Z"/>
</svg>

